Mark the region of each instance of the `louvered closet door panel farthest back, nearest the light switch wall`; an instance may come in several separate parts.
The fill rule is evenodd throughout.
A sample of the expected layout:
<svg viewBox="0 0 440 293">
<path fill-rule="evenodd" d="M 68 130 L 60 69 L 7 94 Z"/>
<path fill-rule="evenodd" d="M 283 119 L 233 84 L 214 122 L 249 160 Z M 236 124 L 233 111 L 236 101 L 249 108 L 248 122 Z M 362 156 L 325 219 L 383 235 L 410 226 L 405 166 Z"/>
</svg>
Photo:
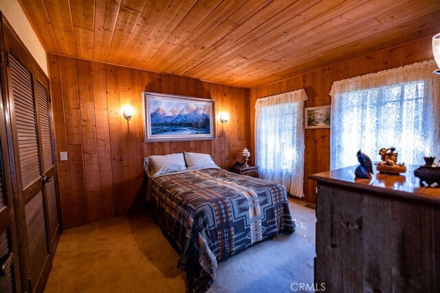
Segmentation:
<svg viewBox="0 0 440 293">
<path fill-rule="evenodd" d="M 59 224 L 58 204 L 56 202 L 54 146 L 52 144 L 52 131 L 50 127 L 50 99 L 47 89 L 45 89 L 43 84 L 38 81 L 36 84 L 41 150 L 43 155 L 43 178 L 45 180 L 45 198 L 47 200 L 47 220 L 49 222 L 49 236 L 52 243 Z"/>
</svg>

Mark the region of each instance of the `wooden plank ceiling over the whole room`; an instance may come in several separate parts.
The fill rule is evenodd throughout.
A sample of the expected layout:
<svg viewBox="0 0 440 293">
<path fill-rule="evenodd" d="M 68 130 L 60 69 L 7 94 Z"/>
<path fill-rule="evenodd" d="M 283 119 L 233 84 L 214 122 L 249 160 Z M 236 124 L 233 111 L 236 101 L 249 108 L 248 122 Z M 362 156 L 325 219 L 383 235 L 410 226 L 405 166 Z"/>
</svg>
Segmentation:
<svg viewBox="0 0 440 293">
<path fill-rule="evenodd" d="M 254 87 L 440 32 L 438 0 L 19 0 L 54 54 Z"/>
</svg>

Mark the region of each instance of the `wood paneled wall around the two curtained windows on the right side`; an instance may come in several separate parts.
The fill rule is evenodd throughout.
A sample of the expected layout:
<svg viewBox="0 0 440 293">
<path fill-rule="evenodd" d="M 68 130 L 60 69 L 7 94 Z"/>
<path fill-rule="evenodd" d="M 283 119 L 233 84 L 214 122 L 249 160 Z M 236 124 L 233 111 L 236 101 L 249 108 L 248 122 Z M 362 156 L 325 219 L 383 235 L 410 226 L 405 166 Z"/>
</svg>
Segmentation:
<svg viewBox="0 0 440 293">
<path fill-rule="evenodd" d="M 329 92 L 336 80 L 353 78 L 366 73 L 391 69 L 414 62 L 432 59 L 431 38 L 423 38 L 392 49 L 372 52 L 361 58 L 355 58 L 331 65 L 316 71 L 295 75 L 281 82 L 259 86 L 250 91 L 250 128 L 251 153 L 254 154 L 254 105 L 256 99 L 286 91 L 304 88 L 309 96 L 305 107 L 330 105 Z M 349 154 L 350 155 L 350 154 Z M 354 155 L 354 154 L 353 154 Z M 254 156 L 250 158 L 253 162 Z M 316 202 L 316 181 L 308 180 L 311 174 L 329 170 L 330 167 L 330 130 L 305 130 L 304 194 L 307 202 Z"/>
</svg>

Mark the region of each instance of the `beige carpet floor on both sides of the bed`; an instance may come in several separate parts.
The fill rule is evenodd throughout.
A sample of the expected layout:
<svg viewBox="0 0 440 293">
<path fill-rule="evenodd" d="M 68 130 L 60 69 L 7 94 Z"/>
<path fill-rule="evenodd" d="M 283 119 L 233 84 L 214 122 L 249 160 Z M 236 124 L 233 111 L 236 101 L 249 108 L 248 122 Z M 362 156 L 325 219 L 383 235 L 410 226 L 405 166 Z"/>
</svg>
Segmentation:
<svg viewBox="0 0 440 293">
<path fill-rule="evenodd" d="M 220 261 L 208 292 L 292 292 L 292 283 L 313 283 L 315 211 L 298 200 L 290 207 L 295 233 Z M 82 226 L 61 235 L 45 292 L 185 292 L 178 259 L 146 213 Z"/>
</svg>

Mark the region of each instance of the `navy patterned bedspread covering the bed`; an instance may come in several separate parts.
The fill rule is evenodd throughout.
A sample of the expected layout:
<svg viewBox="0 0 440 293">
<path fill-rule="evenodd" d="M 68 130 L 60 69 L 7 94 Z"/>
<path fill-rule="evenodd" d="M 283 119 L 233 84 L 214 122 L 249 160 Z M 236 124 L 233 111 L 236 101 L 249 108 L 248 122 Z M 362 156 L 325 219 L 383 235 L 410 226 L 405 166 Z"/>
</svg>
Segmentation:
<svg viewBox="0 0 440 293">
<path fill-rule="evenodd" d="M 295 230 L 283 185 L 223 169 L 153 178 L 151 204 L 181 250 L 188 292 L 208 290 L 222 257 Z"/>
</svg>

